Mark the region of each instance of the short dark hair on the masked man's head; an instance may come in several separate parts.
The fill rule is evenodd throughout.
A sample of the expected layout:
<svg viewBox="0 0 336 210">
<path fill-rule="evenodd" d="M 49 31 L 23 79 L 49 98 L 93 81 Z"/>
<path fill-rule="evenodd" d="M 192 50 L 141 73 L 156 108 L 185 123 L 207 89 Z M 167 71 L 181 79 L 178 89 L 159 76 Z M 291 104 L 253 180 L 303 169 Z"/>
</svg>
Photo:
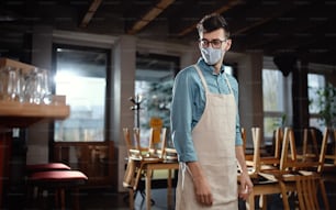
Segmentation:
<svg viewBox="0 0 336 210">
<path fill-rule="evenodd" d="M 208 33 L 215 31 L 217 29 L 223 29 L 225 31 L 226 37 L 229 37 L 229 30 L 226 20 L 219 13 L 212 13 L 205 15 L 199 23 L 198 23 L 198 31 L 199 34 Z"/>
</svg>

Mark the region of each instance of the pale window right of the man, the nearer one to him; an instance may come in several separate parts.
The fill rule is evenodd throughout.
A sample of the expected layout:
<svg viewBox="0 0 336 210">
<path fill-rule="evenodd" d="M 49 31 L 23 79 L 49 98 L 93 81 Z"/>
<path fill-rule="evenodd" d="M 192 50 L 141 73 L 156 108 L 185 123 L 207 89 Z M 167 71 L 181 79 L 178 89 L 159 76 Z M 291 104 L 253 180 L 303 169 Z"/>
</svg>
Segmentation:
<svg viewBox="0 0 336 210">
<path fill-rule="evenodd" d="M 273 136 L 278 126 L 291 123 L 291 77 L 283 77 L 270 57 L 264 60 L 262 69 L 262 104 L 264 133 L 266 142 Z"/>
</svg>

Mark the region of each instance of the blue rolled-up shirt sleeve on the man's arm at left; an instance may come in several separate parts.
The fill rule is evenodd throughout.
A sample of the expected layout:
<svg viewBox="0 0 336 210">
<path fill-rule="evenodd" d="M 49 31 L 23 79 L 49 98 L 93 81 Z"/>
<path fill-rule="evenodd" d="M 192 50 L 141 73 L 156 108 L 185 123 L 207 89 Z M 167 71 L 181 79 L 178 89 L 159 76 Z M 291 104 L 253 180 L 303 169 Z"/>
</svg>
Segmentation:
<svg viewBox="0 0 336 210">
<path fill-rule="evenodd" d="M 191 136 L 193 79 L 187 70 L 180 71 L 172 88 L 170 110 L 171 139 L 180 162 L 197 161 L 197 154 Z"/>
</svg>

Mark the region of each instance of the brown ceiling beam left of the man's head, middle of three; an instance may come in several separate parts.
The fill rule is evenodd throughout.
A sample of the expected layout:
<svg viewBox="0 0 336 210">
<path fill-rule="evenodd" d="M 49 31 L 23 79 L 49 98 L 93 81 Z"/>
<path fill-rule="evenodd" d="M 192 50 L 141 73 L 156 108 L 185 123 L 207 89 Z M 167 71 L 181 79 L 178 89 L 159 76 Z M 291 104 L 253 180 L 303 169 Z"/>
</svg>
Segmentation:
<svg viewBox="0 0 336 210">
<path fill-rule="evenodd" d="M 134 23 L 128 34 L 135 34 L 158 16 L 166 8 L 168 8 L 175 0 L 160 0 L 155 7 L 153 7 L 143 18 Z"/>
</svg>

